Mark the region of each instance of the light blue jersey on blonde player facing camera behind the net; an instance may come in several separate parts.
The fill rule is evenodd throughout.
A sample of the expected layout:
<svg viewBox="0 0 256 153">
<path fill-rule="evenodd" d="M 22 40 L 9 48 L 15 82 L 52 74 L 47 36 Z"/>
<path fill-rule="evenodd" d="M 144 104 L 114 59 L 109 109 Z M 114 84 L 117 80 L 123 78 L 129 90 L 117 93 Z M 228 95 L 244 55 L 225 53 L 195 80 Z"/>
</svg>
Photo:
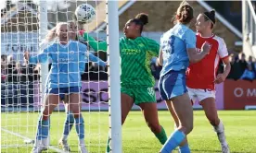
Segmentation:
<svg viewBox="0 0 256 153">
<path fill-rule="evenodd" d="M 69 41 L 66 45 L 55 41 L 42 53 L 30 57 L 30 63 L 45 63 L 50 58 L 52 66 L 47 78 L 47 88 L 81 87 L 81 74 L 88 59 L 106 66 L 94 54 L 87 52 L 86 48 L 79 41 Z"/>
</svg>

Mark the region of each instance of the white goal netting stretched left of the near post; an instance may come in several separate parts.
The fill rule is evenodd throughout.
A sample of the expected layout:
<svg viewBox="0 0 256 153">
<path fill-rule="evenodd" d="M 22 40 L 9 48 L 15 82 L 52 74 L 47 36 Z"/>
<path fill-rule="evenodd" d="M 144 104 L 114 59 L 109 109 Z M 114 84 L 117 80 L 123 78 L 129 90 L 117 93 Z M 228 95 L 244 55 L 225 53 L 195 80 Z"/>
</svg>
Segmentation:
<svg viewBox="0 0 256 153">
<path fill-rule="evenodd" d="M 47 23 L 39 17 L 40 0 L 1 1 L 1 145 L 2 152 L 30 152 L 42 108 L 45 76 L 48 65 L 28 65 L 23 52 L 39 53 L 40 42 L 47 31 L 60 21 L 73 18 L 77 6 L 90 4 L 96 8 L 96 19 L 83 26 L 96 40 L 106 41 L 105 1 L 45 0 Z M 42 8 L 41 8 L 42 9 Z M 43 13 L 41 14 L 43 15 Z M 40 16 L 41 16 L 40 15 Z M 40 19 L 41 18 L 41 19 Z M 97 31 L 97 32 L 94 32 Z M 41 37 L 40 37 L 41 36 Z M 86 43 L 86 42 L 85 42 Z M 107 53 L 94 52 L 103 61 Z M 45 72 L 46 71 L 46 72 Z M 82 76 L 82 110 L 85 125 L 85 145 L 89 152 L 104 152 L 109 130 L 107 68 L 87 63 Z M 43 76 L 42 76 L 43 75 Z M 42 79 L 42 77 L 44 79 Z M 66 112 L 62 101 L 51 115 L 49 152 L 60 152 L 58 140 L 63 133 Z M 79 150 L 78 137 L 73 126 L 68 142 L 71 151 Z"/>
</svg>

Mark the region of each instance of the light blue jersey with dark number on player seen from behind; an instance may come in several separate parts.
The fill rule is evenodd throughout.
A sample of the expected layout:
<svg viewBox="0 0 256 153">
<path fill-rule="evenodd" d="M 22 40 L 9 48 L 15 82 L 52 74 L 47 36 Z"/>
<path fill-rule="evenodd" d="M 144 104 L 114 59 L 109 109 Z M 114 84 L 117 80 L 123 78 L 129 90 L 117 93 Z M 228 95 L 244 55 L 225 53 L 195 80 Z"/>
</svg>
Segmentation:
<svg viewBox="0 0 256 153">
<path fill-rule="evenodd" d="M 160 76 L 169 71 L 186 70 L 189 59 L 188 48 L 196 48 L 196 34 L 183 24 L 176 24 L 173 29 L 165 32 L 160 39 L 163 65 Z"/>
</svg>

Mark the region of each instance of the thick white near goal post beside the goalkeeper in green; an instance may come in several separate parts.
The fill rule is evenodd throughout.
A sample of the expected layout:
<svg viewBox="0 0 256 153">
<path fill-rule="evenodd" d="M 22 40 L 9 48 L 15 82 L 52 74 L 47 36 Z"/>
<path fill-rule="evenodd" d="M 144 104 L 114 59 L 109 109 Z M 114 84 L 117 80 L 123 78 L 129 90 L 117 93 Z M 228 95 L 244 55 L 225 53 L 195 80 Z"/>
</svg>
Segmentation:
<svg viewBox="0 0 256 153">
<path fill-rule="evenodd" d="M 112 153 L 121 153 L 122 119 L 118 1 L 107 1 L 107 21 L 110 146 Z"/>
</svg>

